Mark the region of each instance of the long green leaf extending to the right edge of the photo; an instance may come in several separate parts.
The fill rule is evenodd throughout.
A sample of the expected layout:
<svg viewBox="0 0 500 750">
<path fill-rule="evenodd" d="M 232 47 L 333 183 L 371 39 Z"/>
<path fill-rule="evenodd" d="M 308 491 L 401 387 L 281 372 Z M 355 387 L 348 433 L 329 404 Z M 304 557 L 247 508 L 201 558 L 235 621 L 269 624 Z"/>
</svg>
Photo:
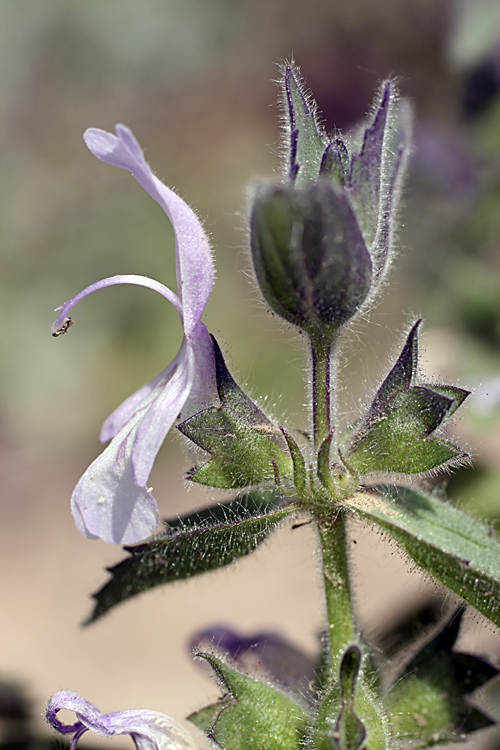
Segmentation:
<svg viewBox="0 0 500 750">
<path fill-rule="evenodd" d="M 386 529 L 415 562 L 500 627 L 500 544 L 452 505 L 406 487 L 377 487 L 344 504 Z"/>
</svg>

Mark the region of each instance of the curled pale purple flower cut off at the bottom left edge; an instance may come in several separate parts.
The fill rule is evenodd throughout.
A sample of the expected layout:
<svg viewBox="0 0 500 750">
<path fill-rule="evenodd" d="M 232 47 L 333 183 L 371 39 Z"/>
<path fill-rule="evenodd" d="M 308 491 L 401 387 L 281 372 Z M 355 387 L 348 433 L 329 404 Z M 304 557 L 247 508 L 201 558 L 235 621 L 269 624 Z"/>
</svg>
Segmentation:
<svg viewBox="0 0 500 750">
<path fill-rule="evenodd" d="M 74 711 L 78 721 L 63 724 L 58 711 Z M 103 714 L 92 703 L 70 690 L 61 690 L 49 700 L 45 714 L 48 723 L 61 734 L 73 734 L 71 750 L 89 729 L 103 737 L 129 734 L 137 750 L 196 750 L 191 735 L 173 719 L 158 711 L 135 709 Z"/>
</svg>

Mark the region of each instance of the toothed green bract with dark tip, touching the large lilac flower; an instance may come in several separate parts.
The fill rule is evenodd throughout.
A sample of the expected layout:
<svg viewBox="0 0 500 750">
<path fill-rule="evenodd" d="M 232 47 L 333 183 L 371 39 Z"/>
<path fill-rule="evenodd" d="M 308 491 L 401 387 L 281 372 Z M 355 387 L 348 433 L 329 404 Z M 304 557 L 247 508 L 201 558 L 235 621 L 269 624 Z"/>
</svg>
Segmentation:
<svg viewBox="0 0 500 750">
<path fill-rule="evenodd" d="M 291 478 L 292 461 L 283 435 L 231 376 L 212 337 L 220 406 L 204 409 L 177 429 L 210 454 L 210 460 L 191 470 L 188 478 L 222 489 L 249 487 Z"/>
</svg>

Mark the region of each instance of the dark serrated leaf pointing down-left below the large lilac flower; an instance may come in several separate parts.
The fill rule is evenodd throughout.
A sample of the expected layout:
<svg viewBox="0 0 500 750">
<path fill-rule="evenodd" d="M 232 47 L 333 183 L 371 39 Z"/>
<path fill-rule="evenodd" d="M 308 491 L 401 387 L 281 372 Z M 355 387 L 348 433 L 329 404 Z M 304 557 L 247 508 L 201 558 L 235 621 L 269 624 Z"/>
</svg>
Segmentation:
<svg viewBox="0 0 500 750">
<path fill-rule="evenodd" d="M 294 510 L 276 491 L 255 490 L 226 505 L 171 522 L 152 542 L 125 547 L 129 556 L 108 568 L 88 623 L 148 589 L 229 565 L 253 552 Z"/>
</svg>

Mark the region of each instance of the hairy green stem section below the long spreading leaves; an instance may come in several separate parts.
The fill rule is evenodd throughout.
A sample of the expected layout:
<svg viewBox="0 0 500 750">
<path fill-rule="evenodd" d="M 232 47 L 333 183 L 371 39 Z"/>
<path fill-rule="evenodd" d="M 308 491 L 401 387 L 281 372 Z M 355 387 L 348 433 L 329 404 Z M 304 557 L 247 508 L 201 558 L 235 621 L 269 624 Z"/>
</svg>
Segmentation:
<svg viewBox="0 0 500 750">
<path fill-rule="evenodd" d="M 342 656 L 356 636 L 349 584 L 345 511 L 339 510 L 338 515 L 332 521 L 321 522 L 319 533 L 323 557 L 330 664 L 332 674 L 338 675 Z"/>
</svg>

